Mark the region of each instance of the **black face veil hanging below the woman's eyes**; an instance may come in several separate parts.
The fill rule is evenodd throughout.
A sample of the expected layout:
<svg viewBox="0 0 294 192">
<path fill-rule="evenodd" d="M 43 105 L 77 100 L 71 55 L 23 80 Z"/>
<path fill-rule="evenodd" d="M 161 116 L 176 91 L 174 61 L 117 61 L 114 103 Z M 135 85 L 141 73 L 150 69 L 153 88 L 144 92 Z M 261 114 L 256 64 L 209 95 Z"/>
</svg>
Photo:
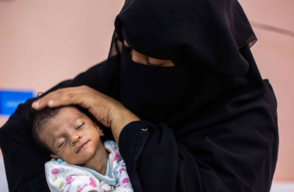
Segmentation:
<svg viewBox="0 0 294 192">
<path fill-rule="evenodd" d="M 152 67 L 121 54 L 121 102 L 137 116 L 159 123 L 187 98 L 193 74 L 184 66 Z"/>
</svg>

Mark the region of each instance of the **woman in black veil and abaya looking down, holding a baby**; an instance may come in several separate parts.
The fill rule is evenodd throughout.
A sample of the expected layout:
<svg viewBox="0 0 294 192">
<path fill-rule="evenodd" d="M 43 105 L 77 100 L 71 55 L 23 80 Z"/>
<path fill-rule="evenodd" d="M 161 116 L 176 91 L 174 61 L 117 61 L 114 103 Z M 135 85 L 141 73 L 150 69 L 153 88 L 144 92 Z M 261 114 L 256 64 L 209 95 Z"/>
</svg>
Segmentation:
<svg viewBox="0 0 294 192">
<path fill-rule="evenodd" d="M 250 52 L 256 40 L 235 0 L 128 0 L 108 59 L 33 107 L 88 108 L 111 127 L 135 191 L 269 191 L 277 103 Z M 25 105 L 0 129 L 9 190 L 43 191 L 50 158 Z"/>
</svg>

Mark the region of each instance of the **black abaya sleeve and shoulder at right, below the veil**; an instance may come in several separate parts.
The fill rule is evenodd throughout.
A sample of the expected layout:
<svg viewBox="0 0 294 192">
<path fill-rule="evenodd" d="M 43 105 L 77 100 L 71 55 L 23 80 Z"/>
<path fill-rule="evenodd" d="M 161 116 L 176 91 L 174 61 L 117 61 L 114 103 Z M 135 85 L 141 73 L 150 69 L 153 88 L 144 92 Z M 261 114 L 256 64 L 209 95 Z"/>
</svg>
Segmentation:
<svg viewBox="0 0 294 192">
<path fill-rule="evenodd" d="M 247 75 L 256 75 L 249 47 L 240 53 L 250 63 Z M 278 152 L 277 106 L 268 80 L 259 82 L 206 105 L 181 125 L 126 125 L 119 146 L 134 189 L 269 191 Z"/>
</svg>

